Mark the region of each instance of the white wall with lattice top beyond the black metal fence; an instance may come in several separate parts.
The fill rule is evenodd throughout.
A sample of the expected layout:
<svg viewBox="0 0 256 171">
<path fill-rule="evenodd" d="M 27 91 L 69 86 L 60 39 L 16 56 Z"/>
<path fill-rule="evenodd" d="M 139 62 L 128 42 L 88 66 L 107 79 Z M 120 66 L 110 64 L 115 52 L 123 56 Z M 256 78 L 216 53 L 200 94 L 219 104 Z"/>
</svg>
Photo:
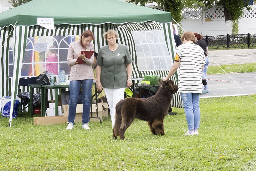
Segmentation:
<svg viewBox="0 0 256 171">
<path fill-rule="evenodd" d="M 244 9 L 244 15 L 239 19 L 238 34 L 256 33 L 256 5 L 251 7 L 250 11 Z M 214 6 L 209 10 L 184 8 L 182 15 L 181 26 L 185 31 L 190 30 L 203 36 L 227 34 L 223 6 Z"/>
</svg>

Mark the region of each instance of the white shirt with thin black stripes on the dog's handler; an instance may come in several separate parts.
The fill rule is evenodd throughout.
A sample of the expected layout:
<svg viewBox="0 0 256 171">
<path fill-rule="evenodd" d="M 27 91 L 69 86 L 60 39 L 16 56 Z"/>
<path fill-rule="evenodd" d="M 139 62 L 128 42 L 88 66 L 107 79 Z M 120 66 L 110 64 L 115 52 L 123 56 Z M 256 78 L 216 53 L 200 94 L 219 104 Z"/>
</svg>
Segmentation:
<svg viewBox="0 0 256 171">
<path fill-rule="evenodd" d="M 177 48 L 176 54 L 181 59 L 179 92 L 202 93 L 202 65 L 206 64 L 203 49 L 193 43 L 185 43 Z"/>
</svg>

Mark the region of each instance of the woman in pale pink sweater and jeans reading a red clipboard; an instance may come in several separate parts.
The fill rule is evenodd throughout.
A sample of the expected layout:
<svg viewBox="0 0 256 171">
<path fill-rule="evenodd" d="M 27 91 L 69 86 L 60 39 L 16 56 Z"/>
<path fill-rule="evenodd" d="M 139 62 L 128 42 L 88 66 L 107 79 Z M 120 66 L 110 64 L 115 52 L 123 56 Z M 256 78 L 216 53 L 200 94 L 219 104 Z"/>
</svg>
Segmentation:
<svg viewBox="0 0 256 171">
<path fill-rule="evenodd" d="M 94 79 L 92 64 L 94 61 L 94 45 L 92 43 L 94 35 L 90 30 L 84 31 L 78 41 L 72 42 L 68 49 L 68 65 L 71 68 L 69 76 L 70 98 L 68 107 L 68 126 L 67 129 L 73 129 L 76 117 L 76 104 L 79 91 L 82 85 L 83 115 L 82 128 L 90 129 L 90 105 L 91 89 Z M 83 51 L 89 51 L 90 56 Z M 77 62 L 79 61 L 80 62 Z M 81 62 L 81 60 L 83 62 Z"/>
</svg>

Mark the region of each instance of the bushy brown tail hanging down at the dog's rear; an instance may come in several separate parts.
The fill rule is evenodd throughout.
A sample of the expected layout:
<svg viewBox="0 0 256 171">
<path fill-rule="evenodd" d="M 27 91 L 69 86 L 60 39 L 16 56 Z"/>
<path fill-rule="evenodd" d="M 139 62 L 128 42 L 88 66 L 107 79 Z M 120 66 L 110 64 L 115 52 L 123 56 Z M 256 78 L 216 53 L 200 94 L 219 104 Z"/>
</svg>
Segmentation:
<svg viewBox="0 0 256 171">
<path fill-rule="evenodd" d="M 119 136 L 119 129 L 122 123 L 122 115 L 121 115 L 121 108 L 122 108 L 123 100 L 119 101 L 116 104 L 116 121 L 115 126 L 113 127 L 113 138 L 117 138 Z"/>
</svg>

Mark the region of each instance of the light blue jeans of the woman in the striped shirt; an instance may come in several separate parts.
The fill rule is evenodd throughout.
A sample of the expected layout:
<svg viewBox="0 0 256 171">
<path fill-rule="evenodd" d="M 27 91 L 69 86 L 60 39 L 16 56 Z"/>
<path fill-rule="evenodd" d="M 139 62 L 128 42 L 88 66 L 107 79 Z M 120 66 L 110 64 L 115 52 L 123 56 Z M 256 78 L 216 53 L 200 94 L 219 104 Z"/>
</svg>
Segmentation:
<svg viewBox="0 0 256 171">
<path fill-rule="evenodd" d="M 188 130 L 199 128 L 200 123 L 200 107 L 199 93 L 180 93 L 185 115 L 188 123 Z"/>
</svg>

